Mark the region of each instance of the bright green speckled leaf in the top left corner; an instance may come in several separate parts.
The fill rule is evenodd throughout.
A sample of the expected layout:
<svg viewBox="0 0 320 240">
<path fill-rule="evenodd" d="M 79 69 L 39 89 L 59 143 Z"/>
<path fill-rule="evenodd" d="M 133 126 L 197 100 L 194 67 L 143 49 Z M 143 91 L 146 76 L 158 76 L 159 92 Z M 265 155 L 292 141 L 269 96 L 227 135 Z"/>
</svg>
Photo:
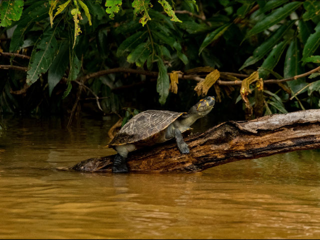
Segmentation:
<svg viewBox="0 0 320 240">
<path fill-rule="evenodd" d="M 9 26 L 21 17 L 23 0 L 2 0 L 0 4 L 0 26 Z"/>
</svg>

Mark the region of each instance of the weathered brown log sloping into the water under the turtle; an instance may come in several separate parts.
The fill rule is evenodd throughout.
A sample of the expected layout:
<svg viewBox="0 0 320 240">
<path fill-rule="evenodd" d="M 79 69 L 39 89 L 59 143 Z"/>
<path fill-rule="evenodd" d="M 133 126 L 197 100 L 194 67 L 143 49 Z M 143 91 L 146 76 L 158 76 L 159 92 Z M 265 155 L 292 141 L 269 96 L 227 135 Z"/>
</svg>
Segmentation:
<svg viewBox="0 0 320 240">
<path fill-rule="evenodd" d="M 180 154 L 174 139 L 129 153 L 129 171 L 198 172 L 241 159 L 320 148 L 320 109 L 228 121 L 184 141 L 189 154 Z M 111 171 L 113 158 L 90 158 L 69 169 Z"/>
</svg>

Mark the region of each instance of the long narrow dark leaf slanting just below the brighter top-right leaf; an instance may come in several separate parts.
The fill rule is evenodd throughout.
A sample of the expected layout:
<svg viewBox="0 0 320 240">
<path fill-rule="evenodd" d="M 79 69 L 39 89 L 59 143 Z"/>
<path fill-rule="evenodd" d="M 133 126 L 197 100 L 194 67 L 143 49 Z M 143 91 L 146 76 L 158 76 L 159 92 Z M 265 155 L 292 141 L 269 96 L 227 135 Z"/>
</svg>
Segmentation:
<svg viewBox="0 0 320 240">
<path fill-rule="evenodd" d="M 239 70 L 260 60 L 268 51 L 272 49 L 275 44 L 282 39 L 285 33 L 291 29 L 293 24 L 294 20 L 288 21 L 280 26 L 269 38 L 267 38 L 261 45 L 254 49 L 253 56 L 247 58 Z"/>
</svg>

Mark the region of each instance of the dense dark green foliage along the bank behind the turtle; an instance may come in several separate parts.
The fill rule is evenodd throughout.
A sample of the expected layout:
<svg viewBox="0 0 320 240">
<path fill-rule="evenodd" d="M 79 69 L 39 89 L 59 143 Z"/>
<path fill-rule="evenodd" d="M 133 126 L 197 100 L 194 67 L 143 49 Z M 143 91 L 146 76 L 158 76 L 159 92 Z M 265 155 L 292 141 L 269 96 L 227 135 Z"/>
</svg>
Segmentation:
<svg viewBox="0 0 320 240">
<path fill-rule="evenodd" d="M 206 94 L 247 119 L 320 105 L 320 72 L 276 81 L 318 66 L 317 0 L 0 4 L 1 112 L 61 112 L 78 96 L 98 111 L 94 94 L 104 112 L 121 114 L 185 111 Z"/>
</svg>

